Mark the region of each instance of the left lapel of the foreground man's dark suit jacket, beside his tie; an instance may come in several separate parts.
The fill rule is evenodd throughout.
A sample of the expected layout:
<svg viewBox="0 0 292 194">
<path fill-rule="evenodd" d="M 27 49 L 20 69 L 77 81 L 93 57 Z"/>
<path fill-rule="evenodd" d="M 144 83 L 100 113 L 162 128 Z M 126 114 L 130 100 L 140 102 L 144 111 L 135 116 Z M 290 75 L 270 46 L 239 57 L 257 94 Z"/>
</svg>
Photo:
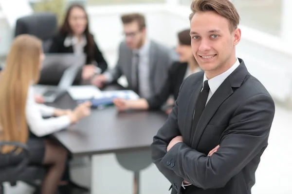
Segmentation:
<svg viewBox="0 0 292 194">
<path fill-rule="evenodd" d="M 184 126 L 183 128 L 185 129 L 186 133 L 184 135 L 184 140 L 183 142 L 186 143 L 187 145 L 191 145 L 191 132 L 192 132 L 192 121 L 193 121 L 193 115 L 194 115 L 194 111 L 195 111 L 195 106 L 196 106 L 196 102 L 197 102 L 197 98 L 199 96 L 199 93 L 202 89 L 202 85 L 203 85 L 203 79 L 200 79 L 200 81 L 197 81 L 192 88 L 193 91 L 191 93 L 191 97 L 189 98 L 189 102 L 187 105 L 187 112 L 186 112 L 186 116 L 185 116 L 185 121 L 184 121 Z"/>
</svg>

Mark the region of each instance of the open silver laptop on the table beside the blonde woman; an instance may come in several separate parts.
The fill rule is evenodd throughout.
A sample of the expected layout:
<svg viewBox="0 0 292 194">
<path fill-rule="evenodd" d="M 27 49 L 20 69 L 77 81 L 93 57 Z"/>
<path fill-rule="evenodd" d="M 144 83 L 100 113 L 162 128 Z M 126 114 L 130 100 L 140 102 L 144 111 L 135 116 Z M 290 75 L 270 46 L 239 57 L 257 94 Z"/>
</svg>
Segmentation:
<svg viewBox="0 0 292 194">
<path fill-rule="evenodd" d="M 63 72 L 62 77 L 57 86 L 52 85 L 35 85 L 35 92 L 44 97 L 44 102 L 55 102 L 58 97 L 63 96 L 78 74 L 79 70 L 82 68 L 83 63 L 74 63 Z"/>
</svg>

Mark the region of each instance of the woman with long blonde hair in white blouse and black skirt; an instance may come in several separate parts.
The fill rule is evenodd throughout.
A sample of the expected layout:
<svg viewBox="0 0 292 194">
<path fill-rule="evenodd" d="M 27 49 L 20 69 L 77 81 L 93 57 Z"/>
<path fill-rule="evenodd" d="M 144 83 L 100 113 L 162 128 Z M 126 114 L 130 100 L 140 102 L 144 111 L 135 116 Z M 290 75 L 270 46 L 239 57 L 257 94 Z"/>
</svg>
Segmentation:
<svg viewBox="0 0 292 194">
<path fill-rule="evenodd" d="M 37 104 L 33 84 L 39 79 L 43 59 L 39 39 L 27 34 L 15 38 L 0 76 L 0 141 L 26 144 L 31 154 L 30 162 L 48 166 L 41 194 L 55 194 L 68 153 L 46 135 L 89 115 L 91 104 L 81 104 L 73 111 Z M 42 116 L 55 117 L 43 119 Z M 3 146 L 0 154 L 9 154 L 12 150 L 11 146 Z M 22 154 L 20 151 L 12 163 L 17 164 Z M 0 165 L 5 164 L 0 161 Z"/>
</svg>

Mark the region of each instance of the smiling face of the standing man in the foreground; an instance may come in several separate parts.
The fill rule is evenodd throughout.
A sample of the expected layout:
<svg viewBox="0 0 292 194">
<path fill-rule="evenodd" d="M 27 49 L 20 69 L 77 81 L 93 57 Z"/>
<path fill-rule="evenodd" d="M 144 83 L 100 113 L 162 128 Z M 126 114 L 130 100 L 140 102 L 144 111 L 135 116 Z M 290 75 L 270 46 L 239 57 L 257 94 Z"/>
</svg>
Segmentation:
<svg viewBox="0 0 292 194">
<path fill-rule="evenodd" d="M 193 54 L 206 75 L 215 77 L 236 61 L 235 46 L 241 32 L 239 29 L 230 32 L 229 25 L 225 17 L 212 11 L 198 12 L 191 19 Z"/>
</svg>

